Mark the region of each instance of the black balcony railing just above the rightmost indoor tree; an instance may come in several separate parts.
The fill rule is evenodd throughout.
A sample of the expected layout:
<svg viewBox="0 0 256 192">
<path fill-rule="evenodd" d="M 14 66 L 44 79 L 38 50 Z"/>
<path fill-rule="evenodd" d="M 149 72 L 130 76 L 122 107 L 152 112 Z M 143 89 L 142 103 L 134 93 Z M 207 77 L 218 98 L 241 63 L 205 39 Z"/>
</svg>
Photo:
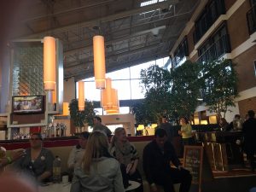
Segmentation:
<svg viewBox="0 0 256 192">
<path fill-rule="evenodd" d="M 230 36 L 228 34 L 219 38 L 217 42 L 199 55 L 197 62 L 214 61 L 226 53 L 230 53 Z"/>
</svg>

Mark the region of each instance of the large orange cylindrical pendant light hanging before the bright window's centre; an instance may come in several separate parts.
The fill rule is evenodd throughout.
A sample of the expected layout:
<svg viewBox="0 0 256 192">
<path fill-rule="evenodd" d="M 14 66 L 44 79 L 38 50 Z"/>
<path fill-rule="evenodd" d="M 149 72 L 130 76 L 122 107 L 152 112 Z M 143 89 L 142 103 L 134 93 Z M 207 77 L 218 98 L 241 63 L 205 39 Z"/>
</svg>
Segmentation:
<svg viewBox="0 0 256 192">
<path fill-rule="evenodd" d="M 102 36 L 93 37 L 94 76 L 96 89 L 105 89 L 105 46 Z"/>
</svg>

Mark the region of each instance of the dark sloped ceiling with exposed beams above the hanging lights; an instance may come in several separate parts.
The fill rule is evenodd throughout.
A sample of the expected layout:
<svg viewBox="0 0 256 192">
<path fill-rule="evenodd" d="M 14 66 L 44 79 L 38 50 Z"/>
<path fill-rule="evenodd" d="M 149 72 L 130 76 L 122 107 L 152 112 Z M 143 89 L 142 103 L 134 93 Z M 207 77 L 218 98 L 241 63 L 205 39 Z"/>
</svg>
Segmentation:
<svg viewBox="0 0 256 192">
<path fill-rule="evenodd" d="M 64 79 L 93 77 L 92 37 L 105 38 L 107 73 L 169 55 L 200 0 L 22 1 L 13 38 L 61 39 Z"/>
</svg>

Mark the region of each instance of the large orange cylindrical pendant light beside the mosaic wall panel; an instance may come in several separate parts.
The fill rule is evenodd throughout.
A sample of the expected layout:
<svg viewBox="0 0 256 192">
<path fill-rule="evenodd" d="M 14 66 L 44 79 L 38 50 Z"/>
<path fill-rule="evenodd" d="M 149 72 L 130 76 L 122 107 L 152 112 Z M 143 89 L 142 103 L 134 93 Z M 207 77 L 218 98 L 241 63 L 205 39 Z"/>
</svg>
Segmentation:
<svg viewBox="0 0 256 192">
<path fill-rule="evenodd" d="M 55 90 L 56 44 L 55 38 L 44 37 L 44 90 Z"/>
</svg>

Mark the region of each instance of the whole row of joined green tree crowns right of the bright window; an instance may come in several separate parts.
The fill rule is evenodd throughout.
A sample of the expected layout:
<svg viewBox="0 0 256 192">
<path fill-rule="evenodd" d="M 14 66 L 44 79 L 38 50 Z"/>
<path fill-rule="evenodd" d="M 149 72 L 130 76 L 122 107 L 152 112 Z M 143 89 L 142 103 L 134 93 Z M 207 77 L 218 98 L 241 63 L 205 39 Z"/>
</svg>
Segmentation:
<svg viewBox="0 0 256 192">
<path fill-rule="evenodd" d="M 203 95 L 210 111 L 226 113 L 235 106 L 237 74 L 228 60 L 196 63 L 185 61 L 172 73 L 152 66 L 141 72 L 141 86 L 145 91 L 143 103 L 133 106 L 138 124 L 156 122 L 161 115 L 176 119 L 190 117 Z"/>
</svg>

